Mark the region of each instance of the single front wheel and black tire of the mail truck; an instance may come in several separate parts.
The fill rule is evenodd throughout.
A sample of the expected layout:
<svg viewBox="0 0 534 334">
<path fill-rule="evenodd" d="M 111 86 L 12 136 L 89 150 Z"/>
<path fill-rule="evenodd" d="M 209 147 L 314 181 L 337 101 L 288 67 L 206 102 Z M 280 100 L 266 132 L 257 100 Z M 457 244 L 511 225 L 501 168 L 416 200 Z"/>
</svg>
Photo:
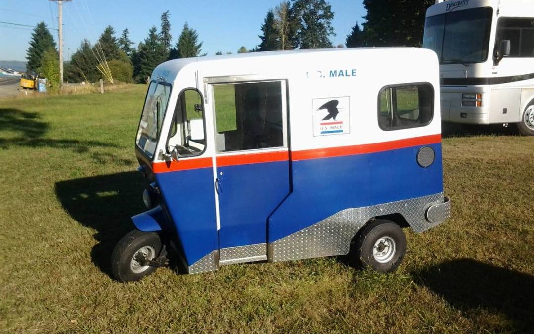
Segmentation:
<svg viewBox="0 0 534 334">
<path fill-rule="evenodd" d="M 133 257 L 141 251 L 148 260 L 153 260 L 161 253 L 163 244 L 156 232 L 131 230 L 117 243 L 111 254 L 111 270 L 113 276 L 121 282 L 139 281 L 157 269 L 152 266 L 136 265 Z"/>
</svg>

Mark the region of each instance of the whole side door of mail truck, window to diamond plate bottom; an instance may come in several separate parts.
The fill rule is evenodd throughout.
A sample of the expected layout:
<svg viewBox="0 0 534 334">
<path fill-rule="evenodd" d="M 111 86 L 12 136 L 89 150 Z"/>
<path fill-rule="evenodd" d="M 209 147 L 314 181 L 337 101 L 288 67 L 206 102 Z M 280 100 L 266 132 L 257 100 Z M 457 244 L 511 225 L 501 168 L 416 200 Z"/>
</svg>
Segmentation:
<svg viewBox="0 0 534 334">
<path fill-rule="evenodd" d="M 218 83 L 211 91 L 219 264 L 265 260 L 269 216 L 289 193 L 286 82 Z"/>
</svg>

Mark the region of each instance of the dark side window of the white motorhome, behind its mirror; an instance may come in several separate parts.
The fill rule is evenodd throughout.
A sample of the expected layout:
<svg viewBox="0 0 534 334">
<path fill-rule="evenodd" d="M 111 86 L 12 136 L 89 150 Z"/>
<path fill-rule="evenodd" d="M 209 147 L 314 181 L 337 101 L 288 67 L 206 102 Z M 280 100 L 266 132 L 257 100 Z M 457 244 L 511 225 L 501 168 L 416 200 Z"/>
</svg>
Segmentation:
<svg viewBox="0 0 534 334">
<path fill-rule="evenodd" d="M 506 40 L 511 46 L 509 57 L 534 57 L 534 18 L 500 18 L 496 50 Z"/>
</svg>

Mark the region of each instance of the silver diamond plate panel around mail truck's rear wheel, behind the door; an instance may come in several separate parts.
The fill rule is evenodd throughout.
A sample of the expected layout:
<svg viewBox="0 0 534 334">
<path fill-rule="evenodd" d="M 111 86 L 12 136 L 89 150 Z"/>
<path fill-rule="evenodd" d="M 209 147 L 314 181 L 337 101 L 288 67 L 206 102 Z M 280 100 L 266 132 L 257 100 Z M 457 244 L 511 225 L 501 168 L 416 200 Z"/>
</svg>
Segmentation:
<svg viewBox="0 0 534 334">
<path fill-rule="evenodd" d="M 356 232 L 375 216 L 400 213 L 416 232 L 425 231 L 445 220 L 429 222 L 425 213 L 443 204 L 443 193 L 374 206 L 350 208 L 269 244 L 269 261 L 288 261 L 344 255 Z M 449 206 L 450 207 L 450 206 Z M 450 213 L 450 211 L 449 211 Z"/>
</svg>

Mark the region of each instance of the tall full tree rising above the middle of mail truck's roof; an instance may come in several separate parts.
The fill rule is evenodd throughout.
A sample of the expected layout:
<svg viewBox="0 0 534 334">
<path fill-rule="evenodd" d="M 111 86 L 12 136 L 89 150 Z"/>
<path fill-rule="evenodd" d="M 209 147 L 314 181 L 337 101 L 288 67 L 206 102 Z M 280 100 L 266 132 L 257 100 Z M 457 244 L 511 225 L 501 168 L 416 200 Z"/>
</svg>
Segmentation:
<svg viewBox="0 0 534 334">
<path fill-rule="evenodd" d="M 332 6 L 325 0 L 293 0 L 297 45 L 301 49 L 332 48 Z"/>
</svg>

